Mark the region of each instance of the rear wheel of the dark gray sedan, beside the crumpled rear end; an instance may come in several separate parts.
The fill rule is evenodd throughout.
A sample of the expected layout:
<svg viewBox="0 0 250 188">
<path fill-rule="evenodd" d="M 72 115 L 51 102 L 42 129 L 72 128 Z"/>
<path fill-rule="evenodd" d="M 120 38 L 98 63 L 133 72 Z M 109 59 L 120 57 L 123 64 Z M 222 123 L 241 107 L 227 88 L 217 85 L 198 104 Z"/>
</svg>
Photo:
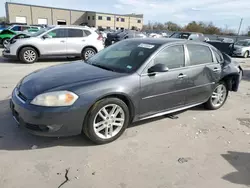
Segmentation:
<svg viewBox="0 0 250 188">
<path fill-rule="evenodd" d="M 205 103 L 205 107 L 209 110 L 217 110 L 221 108 L 228 97 L 228 89 L 224 82 L 216 85 L 211 97 Z"/>
</svg>

